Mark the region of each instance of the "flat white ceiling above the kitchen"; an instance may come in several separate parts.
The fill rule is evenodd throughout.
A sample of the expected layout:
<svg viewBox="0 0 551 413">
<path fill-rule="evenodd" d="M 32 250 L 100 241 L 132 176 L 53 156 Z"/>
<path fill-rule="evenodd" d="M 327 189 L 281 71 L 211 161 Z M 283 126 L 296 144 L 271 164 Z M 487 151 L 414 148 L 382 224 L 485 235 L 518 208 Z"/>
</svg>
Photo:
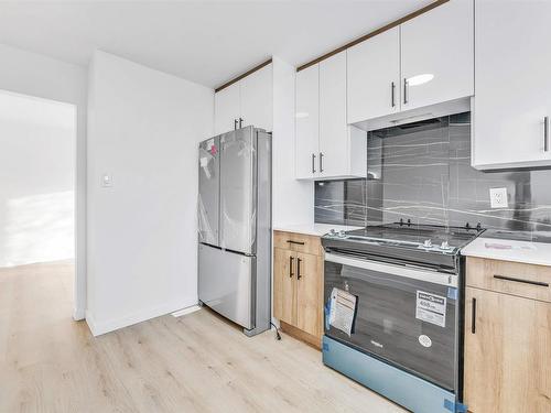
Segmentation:
<svg viewBox="0 0 551 413">
<path fill-rule="evenodd" d="M 430 2 L 0 1 L 0 43 L 79 65 L 100 48 L 216 87 L 271 55 L 298 66 Z"/>
</svg>

